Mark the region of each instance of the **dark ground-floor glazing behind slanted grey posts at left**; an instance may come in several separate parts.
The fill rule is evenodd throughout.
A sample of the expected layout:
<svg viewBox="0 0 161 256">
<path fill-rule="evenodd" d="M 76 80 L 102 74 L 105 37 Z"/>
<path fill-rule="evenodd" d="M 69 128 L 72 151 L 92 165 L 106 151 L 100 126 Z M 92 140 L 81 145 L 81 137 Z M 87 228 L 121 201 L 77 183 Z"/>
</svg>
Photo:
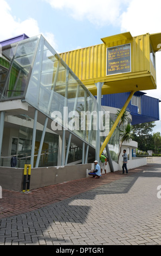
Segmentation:
<svg viewBox="0 0 161 256">
<path fill-rule="evenodd" d="M 38 113 L 39 114 L 39 113 Z M 13 129 L 7 131 L 8 137 L 11 137 L 11 156 L 16 156 L 16 167 L 23 168 L 24 164 L 31 162 L 31 146 L 33 140 L 34 120 L 25 115 L 8 115 L 8 125 L 16 125 Z M 35 167 L 38 149 L 40 147 L 43 126 L 37 122 L 35 149 L 34 149 L 34 164 Z M 4 139 L 4 143 L 6 138 Z M 57 166 L 57 155 L 59 148 L 59 135 L 51 130 L 47 130 L 44 136 L 42 145 L 39 167 Z M 0 166 L 10 166 L 10 157 L 2 157 Z"/>
</svg>

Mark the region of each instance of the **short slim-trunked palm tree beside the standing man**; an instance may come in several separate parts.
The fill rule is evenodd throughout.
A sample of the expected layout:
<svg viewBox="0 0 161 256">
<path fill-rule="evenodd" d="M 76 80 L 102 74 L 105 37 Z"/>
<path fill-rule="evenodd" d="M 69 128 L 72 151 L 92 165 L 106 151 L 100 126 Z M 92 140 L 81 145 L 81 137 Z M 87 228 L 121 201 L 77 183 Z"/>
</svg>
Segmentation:
<svg viewBox="0 0 161 256">
<path fill-rule="evenodd" d="M 120 130 L 120 149 L 119 149 L 119 155 L 118 155 L 118 163 L 119 163 L 119 157 L 121 153 L 121 146 L 123 142 L 129 142 L 130 139 L 132 139 L 132 127 L 131 124 L 124 125 Z"/>
</svg>

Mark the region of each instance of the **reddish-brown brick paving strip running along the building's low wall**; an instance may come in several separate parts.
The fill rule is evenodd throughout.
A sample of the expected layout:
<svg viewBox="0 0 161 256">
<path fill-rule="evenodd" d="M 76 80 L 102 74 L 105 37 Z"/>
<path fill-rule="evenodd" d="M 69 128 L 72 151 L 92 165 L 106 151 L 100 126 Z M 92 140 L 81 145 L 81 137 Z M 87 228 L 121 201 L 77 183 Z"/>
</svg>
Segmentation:
<svg viewBox="0 0 161 256">
<path fill-rule="evenodd" d="M 129 175 L 133 175 L 143 169 L 144 167 L 133 169 L 129 172 Z M 35 190 L 30 190 L 30 192 L 25 193 L 3 190 L 2 199 L 0 199 L 0 219 L 40 209 L 43 206 L 60 202 L 61 200 L 108 184 L 114 180 L 125 178 L 125 176 L 120 173 L 120 171 L 107 173 L 100 179 L 89 177 L 63 182 L 62 184 L 36 188 Z"/>
</svg>

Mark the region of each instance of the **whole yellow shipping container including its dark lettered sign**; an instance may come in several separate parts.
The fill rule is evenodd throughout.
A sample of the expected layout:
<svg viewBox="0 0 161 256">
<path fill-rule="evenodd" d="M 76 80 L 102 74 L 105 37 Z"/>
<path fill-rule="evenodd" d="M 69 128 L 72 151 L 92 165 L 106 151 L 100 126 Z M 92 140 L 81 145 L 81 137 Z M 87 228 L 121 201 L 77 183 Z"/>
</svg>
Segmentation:
<svg viewBox="0 0 161 256">
<path fill-rule="evenodd" d="M 155 53 L 161 33 L 132 37 L 130 32 L 101 39 L 103 44 L 61 53 L 74 74 L 96 95 L 156 89 Z"/>
</svg>

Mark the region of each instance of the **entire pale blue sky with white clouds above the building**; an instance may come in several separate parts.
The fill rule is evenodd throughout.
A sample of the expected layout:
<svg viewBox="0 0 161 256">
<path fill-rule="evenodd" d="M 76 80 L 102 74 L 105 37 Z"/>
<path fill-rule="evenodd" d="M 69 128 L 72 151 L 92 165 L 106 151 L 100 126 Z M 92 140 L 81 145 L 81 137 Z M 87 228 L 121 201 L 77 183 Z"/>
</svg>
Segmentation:
<svg viewBox="0 0 161 256">
<path fill-rule="evenodd" d="M 0 10 L 0 41 L 42 34 L 57 53 L 102 44 L 101 38 L 124 32 L 161 33 L 160 0 L 0 0 Z M 160 70 L 161 47 L 156 53 L 157 89 L 144 91 L 159 100 Z M 153 132 L 161 133 L 161 102 L 159 111 Z"/>
</svg>

